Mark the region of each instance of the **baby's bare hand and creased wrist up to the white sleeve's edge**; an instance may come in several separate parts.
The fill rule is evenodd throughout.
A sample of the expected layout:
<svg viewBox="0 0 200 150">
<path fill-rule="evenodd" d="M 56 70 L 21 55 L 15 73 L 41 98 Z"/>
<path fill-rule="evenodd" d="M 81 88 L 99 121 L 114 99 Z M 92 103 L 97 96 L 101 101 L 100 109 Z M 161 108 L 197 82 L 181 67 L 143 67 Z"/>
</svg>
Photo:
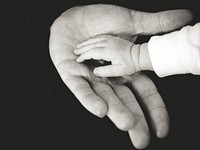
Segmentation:
<svg viewBox="0 0 200 150">
<path fill-rule="evenodd" d="M 130 41 L 110 35 L 91 38 L 77 45 L 77 62 L 89 59 L 105 60 L 111 65 L 97 67 L 94 74 L 102 77 L 132 75 L 141 70 L 152 70 L 147 44 L 134 45 Z"/>
</svg>

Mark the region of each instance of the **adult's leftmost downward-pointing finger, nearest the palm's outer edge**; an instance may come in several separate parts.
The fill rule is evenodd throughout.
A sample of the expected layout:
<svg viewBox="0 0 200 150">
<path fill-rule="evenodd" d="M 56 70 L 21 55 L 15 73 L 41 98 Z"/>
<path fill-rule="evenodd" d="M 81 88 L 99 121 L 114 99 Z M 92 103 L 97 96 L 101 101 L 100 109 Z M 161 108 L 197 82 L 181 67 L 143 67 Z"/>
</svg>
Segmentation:
<svg viewBox="0 0 200 150">
<path fill-rule="evenodd" d="M 58 69 L 63 82 L 77 97 L 80 103 L 94 115 L 98 117 L 104 117 L 108 111 L 107 104 L 94 93 L 90 84 L 79 75 L 84 75 L 84 73 L 82 73 L 84 68 L 82 68 L 80 64 L 75 64 L 77 63 L 69 63 L 68 61 L 65 61 L 57 65 L 56 68 Z M 68 66 L 70 66 L 70 68 Z M 74 74 L 74 71 L 71 68 L 74 68 L 79 72 Z M 72 74 L 74 75 L 70 75 L 71 72 L 69 70 L 71 70 Z M 86 70 L 84 72 L 86 72 Z M 87 73 L 85 73 L 85 75 L 87 75 Z"/>
</svg>

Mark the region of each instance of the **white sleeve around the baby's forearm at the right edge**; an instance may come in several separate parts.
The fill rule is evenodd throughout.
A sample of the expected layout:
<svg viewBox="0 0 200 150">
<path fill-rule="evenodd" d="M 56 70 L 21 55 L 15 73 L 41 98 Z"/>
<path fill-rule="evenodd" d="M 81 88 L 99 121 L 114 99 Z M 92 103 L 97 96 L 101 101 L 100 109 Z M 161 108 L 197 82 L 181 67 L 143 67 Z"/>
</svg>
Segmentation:
<svg viewBox="0 0 200 150">
<path fill-rule="evenodd" d="M 200 75 L 200 23 L 151 37 L 148 50 L 159 77 L 186 73 Z"/>
</svg>

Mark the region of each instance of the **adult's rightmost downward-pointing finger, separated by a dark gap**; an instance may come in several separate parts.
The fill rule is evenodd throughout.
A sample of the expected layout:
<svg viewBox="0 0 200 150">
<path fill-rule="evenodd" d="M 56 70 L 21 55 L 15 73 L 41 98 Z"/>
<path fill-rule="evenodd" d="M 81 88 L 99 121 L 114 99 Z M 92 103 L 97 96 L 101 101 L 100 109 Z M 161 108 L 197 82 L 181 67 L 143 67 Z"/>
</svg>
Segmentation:
<svg viewBox="0 0 200 150">
<path fill-rule="evenodd" d="M 164 138 L 169 132 L 169 115 L 154 83 L 147 76 L 137 74 L 132 77 L 132 86 L 149 113 L 157 137 Z"/>
</svg>

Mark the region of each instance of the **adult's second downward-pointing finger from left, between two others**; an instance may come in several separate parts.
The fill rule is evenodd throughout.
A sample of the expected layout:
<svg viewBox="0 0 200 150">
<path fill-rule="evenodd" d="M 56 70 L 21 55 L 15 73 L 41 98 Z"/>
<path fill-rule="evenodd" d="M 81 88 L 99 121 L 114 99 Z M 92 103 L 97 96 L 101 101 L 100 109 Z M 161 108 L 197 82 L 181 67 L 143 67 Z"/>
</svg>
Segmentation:
<svg viewBox="0 0 200 150">
<path fill-rule="evenodd" d="M 128 131 L 135 122 L 131 112 L 118 99 L 112 88 L 105 83 L 93 82 L 94 91 L 108 104 L 107 116 L 121 130 Z"/>
</svg>

